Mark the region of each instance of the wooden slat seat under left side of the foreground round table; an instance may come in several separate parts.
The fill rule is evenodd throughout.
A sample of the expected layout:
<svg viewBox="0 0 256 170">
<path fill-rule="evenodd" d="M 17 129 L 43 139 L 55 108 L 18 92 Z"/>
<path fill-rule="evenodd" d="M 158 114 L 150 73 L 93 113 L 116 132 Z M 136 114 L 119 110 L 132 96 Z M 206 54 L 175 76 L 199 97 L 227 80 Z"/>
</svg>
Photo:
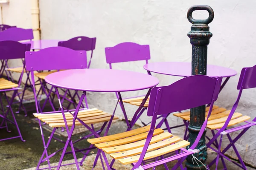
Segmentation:
<svg viewBox="0 0 256 170">
<path fill-rule="evenodd" d="M 73 115 L 71 115 L 69 112 L 65 112 L 64 115 L 67 120 L 67 125 L 72 126 Z M 50 127 L 65 127 L 64 118 L 61 112 L 45 114 L 34 113 L 34 116 L 47 123 Z M 79 111 L 77 117 L 81 119 L 85 124 L 94 124 L 100 122 L 108 122 L 111 119 L 111 116 L 112 114 L 105 113 L 99 109 L 93 108 Z M 118 117 L 114 116 L 113 119 L 116 120 Z M 75 124 L 81 125 L 81 122 L 76 120 Z"/>
</svg>

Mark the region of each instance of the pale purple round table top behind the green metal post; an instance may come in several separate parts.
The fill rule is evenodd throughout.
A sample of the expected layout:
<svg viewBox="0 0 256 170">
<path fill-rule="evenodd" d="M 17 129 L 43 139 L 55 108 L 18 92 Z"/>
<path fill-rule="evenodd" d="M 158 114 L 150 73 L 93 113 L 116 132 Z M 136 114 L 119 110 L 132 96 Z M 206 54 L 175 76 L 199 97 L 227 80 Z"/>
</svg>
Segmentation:
<svg viewBox="0 0 256 170">
<path fill-rule="evenodd" d="M 147 71 L 172 76 L 191 76 L 191 62 L 152 62 L 143 66 Z M 207 76 L 209 77 L 232 77 L 237 72 L 231 68 L 218 65 L 207 65 Z"/>
</svg>

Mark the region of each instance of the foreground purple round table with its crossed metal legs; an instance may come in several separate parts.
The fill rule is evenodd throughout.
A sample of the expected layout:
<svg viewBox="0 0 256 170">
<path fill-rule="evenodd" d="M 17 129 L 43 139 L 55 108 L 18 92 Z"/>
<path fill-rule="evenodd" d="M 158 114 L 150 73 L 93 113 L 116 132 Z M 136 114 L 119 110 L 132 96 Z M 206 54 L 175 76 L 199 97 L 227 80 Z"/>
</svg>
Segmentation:
<svg viewBox="0 0 256 170">
<path fill-rule="evenodd" d="M 60 100 L 60 96 L 58 93 L 58 88 L 66 88 L 70 90 L 76 90 L 76 91 L 83 91 L 83 94 L 81 95 L 79 99 L 79 103 L 76 108 L 76 112 L 73 114 L 73 119 L 76 119 L 80 121 L 77 118 L 78 110 L 81 106 L 81 102 L 84 99 L 84 96 L 86 95 L 87 91 L 93 91 L 93 92 L 117 92 L 119 96 L 119 100 L 116 102 L 116 107 L 118 103 L 121 106 L 121 109 L 123 111 L 123 114 L 125 116 L 125 121 L 128 126 L 128 129 L 131 130 L 131 124 L 128 121 L 128 117 L 125 112 L 125 108 L 122 102 L 122 97 L 120 92 L 124 91 L 138 91 L 143 89 L 148 89 L 148 93 L 145 96 L 145 100 L 143 100 L 141 106 L 137 109 L 137 111 L 134 113 L 133 119 L 136 120 L 138 113 L 142 109 L 143 105 L 145 104 L 145 101 L 147 100 L 151 88 L 156 86 L 159 83 L 159 80 L 156 77 L 153 77 L 148 74 L 143 73 L 137 73 L 133 71 L 124 71 L 124 70 L 114 70 L 114 69 L 77 69 L 77 70 L 66 70 L 66 71 L 59 71 L 52 74 L 49 74 L 47 77 L 45 77 L 45 81 L 52 85 L 57 93 L 58 100 Z M 108 130 L 110 128 L 111 122 L 113 120 L 114 113 L 116 111 L 116 107 L 113 111 L 113 115 L 108 123 L 108 127 L 106 128 L 104 136 L 107 135 Z M 64 115 L 64 110 L 60 102 L 60 108 L 61 112 Z M 64 119 L 65 121 L 65 119 Z M 131 121 L 132 123 L 133 121 Z M 93 132 L 90 127 L 88 127 L 86 124 L 82 124 L 85 127 L 87 127 L 88 130 Z M 73 130 L 75 128 L 75 124 L 73 123 L 70 131 L 67 128 L 68 138 L 65 144 L 65 147 L 63 149 L 63 152 L 61 154 L 61 159 L 59 161 L 57 169 L 61 166 L 61 162 L 63 161 L 64 155 L 66 153 L 67 147 L 70 143 L 70 139 L 73 133 Z M 97 135 L 97 134 L 96 134 Z M 99 136 L 97 136 L 99 137 Z M 97 153 L 98 154 L 98 153 Z M 74 157 L 77 165 L 77 169 L 79 169 L 78 162 L 76 158 Z M 84 160 L 84 159 L 83 159 Z"/>
</svg>

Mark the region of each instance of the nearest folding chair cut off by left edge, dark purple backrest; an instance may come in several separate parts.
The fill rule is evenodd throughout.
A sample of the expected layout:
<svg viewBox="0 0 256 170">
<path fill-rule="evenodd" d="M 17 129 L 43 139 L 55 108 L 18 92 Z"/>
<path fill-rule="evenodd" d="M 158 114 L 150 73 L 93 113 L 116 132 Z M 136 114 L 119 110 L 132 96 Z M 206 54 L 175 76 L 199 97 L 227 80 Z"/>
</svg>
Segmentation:
<svg viewBox="0 0 256 170">
<path fill-rule="evenodd" d="M 16 42 L 16 41 L 0 41 L 0 54 L 1 54 L 0 59 L 2 59 L 2 60 L 23 59 L 25 57 L 25 51 L 30 51 L 30 46 L 31 46 L 30 44 L 21 44 L 20 42 Z M 17 94 L 17 91 L 20 89 L 20 83 L 21 83 L 22 76 L 23 76 L 23 71 L 20 74 L 18 83 L 9 81 L 4 78 L 0 78 L 0 93 L 4 94 L 4 95 L 1 94 L 1 96 L 0 96 L 0 105 L 1 105 L 1 111 L 2 111 L 2 114 L 0 114 L 0 117 L 3 119 L 3 120 L 1 120 L 0 128 L 1 129 L 6 128 L 6 130 L 9 132 L 7 122 L 10 122 L 16 126 L 17 131 L 19 133 L 18 136 L 6 138 L 6 139 L 0 139 L 0 141 L 7 140 L 7 139 L 20 138 L 21 141 L 25 142 L 25 140 L 23 140 L 23 138 L 21 136 L 19 126 L 15 119 L 15 115 L 12 111 L 12 104 L 13 104 L 13 101 Z M 13 91 L 11 99 L 8 99 L 8 97 L 6 96 L 7 91 Z M 2 102 L 3 97 L 6 98 L 6 101 L 9 105 L 9 107 L 7 108 L 7 111 L 5 111 L 5 108 L 3 106 L 3 102 Z M 11 111 L 13 120 L 11 120 L 7 117 L 9 111 Z"/>
</svg>

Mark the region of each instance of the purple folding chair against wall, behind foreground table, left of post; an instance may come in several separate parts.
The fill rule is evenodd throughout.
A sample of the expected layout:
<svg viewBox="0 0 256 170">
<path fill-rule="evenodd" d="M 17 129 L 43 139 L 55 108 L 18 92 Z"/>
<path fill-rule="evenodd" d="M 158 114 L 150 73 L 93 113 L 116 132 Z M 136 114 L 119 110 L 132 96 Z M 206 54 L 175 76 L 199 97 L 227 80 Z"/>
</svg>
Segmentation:
<svg viewBox="0 0 256 170">
<path fill-rule="evenodd" d="M 117 44 L 114 47 L 107 47 L 105 48 L 105 54 L 110 69 L 112 69 L 112 63 L 131 62 L 140 60 L 145 60 L 145 62 L 148 63 L 148 59 L 150 59 L 149 45 L 140 45 L 134 42 L 123 42 Z M 116 93 L 117 99 L 119 99 L 119 96 L 120 94 Z M 139 119 L 142 113 L 148 108 L 149 96 L 144 95 L 129 97 L 122 99 L 122 101 L 129 103 L 131 105 L 139 106 L 138 110 L 135 113 L 136 115 L 138 115 L 137 118 L 136 116 L 134 116 L 134 119 L 131 120 L 130 126 L 132 127 L 135 124 L 135 122 L 137 122 L 137 119 Z M 143 101 L 145 102 L 145 104 L 141 105 Z M 123 108 L 120 102 L 119 105 L 121 106 L 121 108 Z M 126 114 L 124 115 L 126 116 Z M 143 125 L 146 125 L 142 120 L 141 122 L 143 123 Z M 126 123 L 128 124 L 129 122 Z"/>
</svg>

